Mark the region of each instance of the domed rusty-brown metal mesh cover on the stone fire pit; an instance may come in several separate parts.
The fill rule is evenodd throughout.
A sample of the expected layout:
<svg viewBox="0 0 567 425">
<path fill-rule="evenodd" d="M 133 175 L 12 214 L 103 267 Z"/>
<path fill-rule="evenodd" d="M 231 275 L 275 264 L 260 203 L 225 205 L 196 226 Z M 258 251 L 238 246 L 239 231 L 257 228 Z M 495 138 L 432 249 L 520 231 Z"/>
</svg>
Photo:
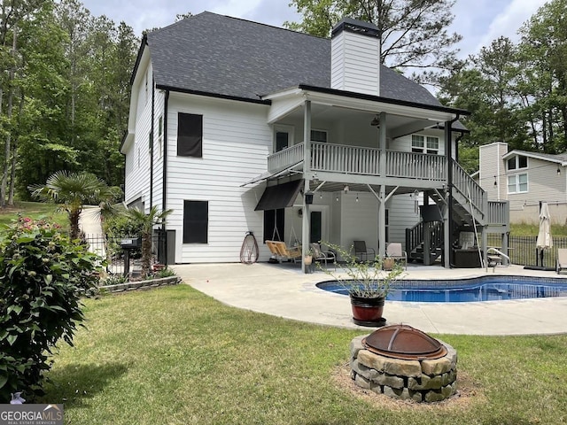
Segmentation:
<svg viewBox="0 0 567 425">
<path fill-rule="evenodd" d="M 379 328 L 362 344 L 370 352 L 395 359 L 439 359 L 447 354 L 438 340 L 408 325 Z"/>
</svg>

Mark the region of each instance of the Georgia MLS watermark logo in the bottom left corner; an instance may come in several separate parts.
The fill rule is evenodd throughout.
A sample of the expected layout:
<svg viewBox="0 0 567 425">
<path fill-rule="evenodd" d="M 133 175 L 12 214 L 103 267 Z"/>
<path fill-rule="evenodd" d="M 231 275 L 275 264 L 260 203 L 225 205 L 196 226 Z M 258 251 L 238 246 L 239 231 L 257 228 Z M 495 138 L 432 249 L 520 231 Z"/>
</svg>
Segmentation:
<svg viewBox="0 0 567 425">
<path fill-rule="evenodd" d="M 0 425 L 63 425 L 63 405 L 0 405 Z"/>
</svg>

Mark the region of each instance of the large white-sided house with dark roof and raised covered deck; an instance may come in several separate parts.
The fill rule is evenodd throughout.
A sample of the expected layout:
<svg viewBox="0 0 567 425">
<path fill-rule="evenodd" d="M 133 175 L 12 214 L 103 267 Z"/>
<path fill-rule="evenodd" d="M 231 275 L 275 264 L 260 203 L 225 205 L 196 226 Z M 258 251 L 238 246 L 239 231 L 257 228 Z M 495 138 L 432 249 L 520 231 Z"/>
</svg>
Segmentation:
<svg viewBox="0 0 567 425">
<path fill-rule="evenodd" d="M 485 194 L 454 161 L 468 112 L 380 66 L 377 36 L 353 19 L 328 40 L 210 12 L 144 35 L 120 151 L 128 205 L 174 210 L 169 261 L 239 261 L 250 230 L 260 260 L 270 239 L 381 254 L 425 239 L 429 264 L 471 215 L 486 229 Z M 422 193 L 435 226 L 419 224 Z"/>
</svg>

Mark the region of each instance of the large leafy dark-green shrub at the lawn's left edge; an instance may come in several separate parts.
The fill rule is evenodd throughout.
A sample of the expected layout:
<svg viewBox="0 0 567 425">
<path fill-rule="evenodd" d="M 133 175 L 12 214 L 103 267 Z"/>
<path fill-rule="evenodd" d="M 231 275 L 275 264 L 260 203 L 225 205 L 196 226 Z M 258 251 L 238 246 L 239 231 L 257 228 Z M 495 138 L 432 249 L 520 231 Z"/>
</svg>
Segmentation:
<svg viewBox="0 0 567 425">
<path fill-rule="evenodd" d="M 43 394 L 49 354 L 61 338 L 73 345 L 84 320 L 97 260 L 44 220 L 20 218 L 0 236 L 0 403 L 20 390 Z"/>
</svg>

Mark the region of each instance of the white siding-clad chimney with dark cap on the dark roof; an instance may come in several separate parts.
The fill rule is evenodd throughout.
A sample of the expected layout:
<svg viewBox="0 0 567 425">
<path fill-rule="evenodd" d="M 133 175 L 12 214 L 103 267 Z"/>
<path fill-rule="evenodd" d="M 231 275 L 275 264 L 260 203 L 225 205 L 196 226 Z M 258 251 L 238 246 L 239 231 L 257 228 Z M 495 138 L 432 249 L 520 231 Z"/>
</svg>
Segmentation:
<svg viewBox="0 0 567 425">
<path fill-rule="evenodd" d="M 344 18 L 331 33 L 330 87 L 380 96 L 378 27 Z"/>
</svg>

